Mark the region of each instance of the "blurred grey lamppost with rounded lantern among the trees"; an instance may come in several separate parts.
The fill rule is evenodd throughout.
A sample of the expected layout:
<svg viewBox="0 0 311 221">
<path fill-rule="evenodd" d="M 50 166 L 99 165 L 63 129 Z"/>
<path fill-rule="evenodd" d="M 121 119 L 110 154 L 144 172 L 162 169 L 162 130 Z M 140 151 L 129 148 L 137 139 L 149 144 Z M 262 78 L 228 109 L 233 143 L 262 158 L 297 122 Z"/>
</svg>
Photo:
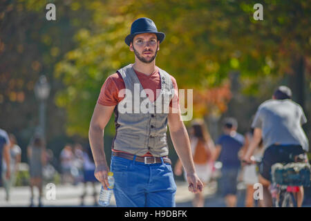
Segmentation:
<svg viewBox="0 0 311 221">
<path fill-rule="evenodd" d="M 35 84 L 35 96 L 39 99 L 39 128 L 41 135 L 45 137 L 45 111 L 46 111 L 46 99 L 50 95 L 50 84 L 48 84 L 48 79 L 45 75 L 41 75 L 39 80 Z"/>
</svg>

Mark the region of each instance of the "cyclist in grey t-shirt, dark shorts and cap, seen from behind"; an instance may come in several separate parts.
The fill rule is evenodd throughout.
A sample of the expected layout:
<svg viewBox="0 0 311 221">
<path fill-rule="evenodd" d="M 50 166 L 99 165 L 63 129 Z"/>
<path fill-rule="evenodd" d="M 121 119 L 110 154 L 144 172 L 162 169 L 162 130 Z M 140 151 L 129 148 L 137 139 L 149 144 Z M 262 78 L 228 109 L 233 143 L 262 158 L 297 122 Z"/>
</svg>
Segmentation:
<svg viewBox="0 0 311 221">
<path fill-rule="evenodd" d="M 259 182 L 263 184 L 263 204 L 272 206 L 269 191 L 271 184 L 271 166 L 277 162 L 293 162 L 292 155 L 308 152 L 308 139 L 301 127 L 307 122 L 303 109 L 292 101 L 292 91 L 287 86 L 279 86 L 272 99 L 258 107 L 252 128 L 254 137 L 243 157 L 251 162 L 250 157 L 263 139 L 265 153 L 259 169 Z M 297 206 L 303 202 L 303 186 L 299 187 Z"/>
</svg>

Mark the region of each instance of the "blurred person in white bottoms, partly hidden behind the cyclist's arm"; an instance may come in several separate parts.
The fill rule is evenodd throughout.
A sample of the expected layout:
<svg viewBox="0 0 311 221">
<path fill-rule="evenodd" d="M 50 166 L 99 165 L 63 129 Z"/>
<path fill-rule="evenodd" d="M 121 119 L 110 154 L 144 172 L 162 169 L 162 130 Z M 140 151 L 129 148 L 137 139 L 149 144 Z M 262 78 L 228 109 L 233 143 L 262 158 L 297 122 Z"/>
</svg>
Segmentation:
<svg viewBox="0 0 311 221">
<path fill-rule="evenodd" d="M 249 143 L 252 142 L 254 134 L 254 128 L 251 128 L 247 133 L 245 133 L 245 143 L 242 148 L 241 155 L 244 157 L 247 152 Z M 261 141 L 258 144 L 258 148 L 254 152 L 254 157 L 256 160 L 260 160 L 263 157 L 263 142 Z M 254 206 L 254 184 L 258 183 L 258 172 L 256 164 L 245 165 L 243 166 L 243 182 L 246 184 L 246 195 L 245 195 L 245 206 L 253 207 Z M 261 206 L 261 200 L 258 201 L 258 206 Z"/>
</svg>

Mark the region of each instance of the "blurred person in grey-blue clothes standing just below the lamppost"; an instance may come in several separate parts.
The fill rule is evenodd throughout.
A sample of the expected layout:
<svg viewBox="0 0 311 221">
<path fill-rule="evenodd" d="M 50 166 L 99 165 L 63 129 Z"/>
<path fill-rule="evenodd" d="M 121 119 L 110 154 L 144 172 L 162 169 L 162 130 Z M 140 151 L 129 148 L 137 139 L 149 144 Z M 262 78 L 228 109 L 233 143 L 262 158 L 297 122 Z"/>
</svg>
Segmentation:
<svg viewBox="0 0 311 221">
<path fill-rule="evenodd" d="M 41 198 L 42 198 L 42 185 L 43 185 L 43 167 L 46 164 L 46 144 L 44 139 L 35 135 L 32 142 L 27 149 L 28 152 L 28 162 L 29 162 L 29 171 L 30 171 L 30 206 L 34 206 L 34 187 L 37 186 L 39 189 L 39 204 L 38 206 L 42 206 Z"/>
</svg>

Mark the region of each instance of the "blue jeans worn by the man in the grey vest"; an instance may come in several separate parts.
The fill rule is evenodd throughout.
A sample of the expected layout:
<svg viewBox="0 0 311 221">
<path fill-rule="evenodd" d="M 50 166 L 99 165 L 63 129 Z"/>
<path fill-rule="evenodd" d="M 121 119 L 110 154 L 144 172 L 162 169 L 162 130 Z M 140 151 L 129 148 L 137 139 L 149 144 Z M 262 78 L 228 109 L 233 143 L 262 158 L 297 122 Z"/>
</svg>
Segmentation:
<svg viewBox="0 0 311 221">
<path fill-rule="evenodd" d="M 144 164 L 111 157 L 118 207 L 174 207 L 176 183 L 170 164 Z"/>
</svg>

